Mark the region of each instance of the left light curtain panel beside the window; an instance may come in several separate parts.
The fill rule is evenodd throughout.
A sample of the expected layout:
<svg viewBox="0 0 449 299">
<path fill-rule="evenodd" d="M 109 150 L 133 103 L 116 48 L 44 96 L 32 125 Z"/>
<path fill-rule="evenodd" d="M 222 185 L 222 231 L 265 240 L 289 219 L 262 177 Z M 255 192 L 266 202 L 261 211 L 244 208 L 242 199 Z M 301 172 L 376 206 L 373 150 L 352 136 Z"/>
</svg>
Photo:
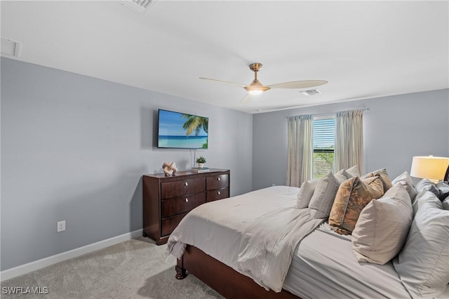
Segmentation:
<svg viewBox="0 0 449 299">
<path fill-rule="evenodd" d="M 300 187 L 311 179 L 314 116 L 288 117 L 287 185 Z"/>
</svg>

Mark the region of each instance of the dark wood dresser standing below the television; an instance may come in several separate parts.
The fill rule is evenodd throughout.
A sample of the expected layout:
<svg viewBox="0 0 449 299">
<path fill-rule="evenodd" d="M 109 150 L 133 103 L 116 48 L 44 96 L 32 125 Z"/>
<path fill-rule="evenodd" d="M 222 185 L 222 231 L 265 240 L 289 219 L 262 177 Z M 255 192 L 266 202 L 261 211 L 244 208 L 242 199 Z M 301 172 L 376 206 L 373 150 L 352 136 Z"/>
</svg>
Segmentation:
<svg viewBox="0 0 449 299">
<path fill-rule="evenodd" d="M 208 201 L 229 197 L 229 170 L 204 173 L 180 171 L 144 175 L 143 236 L 166 244 L 168 236 L 190 210 Z"/>
</svg>

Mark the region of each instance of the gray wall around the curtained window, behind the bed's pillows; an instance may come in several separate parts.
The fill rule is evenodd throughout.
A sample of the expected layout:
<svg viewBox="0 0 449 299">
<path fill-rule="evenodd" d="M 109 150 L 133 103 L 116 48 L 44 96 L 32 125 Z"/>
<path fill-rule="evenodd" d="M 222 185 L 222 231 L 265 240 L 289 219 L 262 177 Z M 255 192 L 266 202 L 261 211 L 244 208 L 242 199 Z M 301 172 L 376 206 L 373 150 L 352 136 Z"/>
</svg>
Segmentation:
<svg viewBox="0 0 449 299">
<path fill-rule="evenodd" d="M 319 95 L 315 95 L 319 96 Z M 365 171 L 410 172 L 413 156 L 449 157 L 449 90 L 288 109 L 253 117 L 253 190 L 286 184 L 287 119 L 369 107 L 363 114 Z"/>
</svg>

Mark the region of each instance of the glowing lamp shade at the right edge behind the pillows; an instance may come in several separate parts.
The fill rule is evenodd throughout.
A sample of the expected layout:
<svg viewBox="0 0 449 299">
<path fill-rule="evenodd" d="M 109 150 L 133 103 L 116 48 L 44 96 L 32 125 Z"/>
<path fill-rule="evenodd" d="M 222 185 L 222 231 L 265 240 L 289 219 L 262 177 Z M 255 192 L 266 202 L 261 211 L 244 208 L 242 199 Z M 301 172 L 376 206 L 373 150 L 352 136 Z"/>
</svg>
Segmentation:
<svg viewBox="0 0 449 299">
<path fill-rule="evenodd" d="M 415 178 L 443 180 L 449 166 L 449 158 L 445 157 L 413 157 L 410 175 Z"/>
</svg>

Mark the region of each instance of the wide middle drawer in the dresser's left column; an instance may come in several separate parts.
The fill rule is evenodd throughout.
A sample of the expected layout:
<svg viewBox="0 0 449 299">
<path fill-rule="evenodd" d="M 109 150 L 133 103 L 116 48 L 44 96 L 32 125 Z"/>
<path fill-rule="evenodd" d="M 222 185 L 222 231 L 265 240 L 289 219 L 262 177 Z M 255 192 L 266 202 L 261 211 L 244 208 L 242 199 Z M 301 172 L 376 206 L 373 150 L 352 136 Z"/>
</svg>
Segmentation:
<svg viewBox="0 0 449 299">
<path fill-rule="evenodd" d="M 206 193 L 201 192 L 185 197 L 175 197 L 161 201 L 161 217 L 173 216 L 188 212 L 206 202 Z"/>
</svg>

